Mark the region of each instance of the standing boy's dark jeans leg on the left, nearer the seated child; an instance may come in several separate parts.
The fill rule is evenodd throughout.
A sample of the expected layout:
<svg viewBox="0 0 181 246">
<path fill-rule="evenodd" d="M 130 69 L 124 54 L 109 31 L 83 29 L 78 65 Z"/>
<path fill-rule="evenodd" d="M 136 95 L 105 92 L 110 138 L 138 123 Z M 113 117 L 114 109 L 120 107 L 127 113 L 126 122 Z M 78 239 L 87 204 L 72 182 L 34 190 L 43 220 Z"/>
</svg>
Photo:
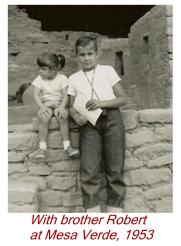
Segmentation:
<svg viewBox="0 0 181 246">
<path fill-rule="evenodd" d="M 81 170 L 80 179 L 84 207 L 99 207 L 101 189 L 102 139 L 90 123 L 80 127 Z M 97 209 L 96 209 L 97 210 Z"/>
</svg>

